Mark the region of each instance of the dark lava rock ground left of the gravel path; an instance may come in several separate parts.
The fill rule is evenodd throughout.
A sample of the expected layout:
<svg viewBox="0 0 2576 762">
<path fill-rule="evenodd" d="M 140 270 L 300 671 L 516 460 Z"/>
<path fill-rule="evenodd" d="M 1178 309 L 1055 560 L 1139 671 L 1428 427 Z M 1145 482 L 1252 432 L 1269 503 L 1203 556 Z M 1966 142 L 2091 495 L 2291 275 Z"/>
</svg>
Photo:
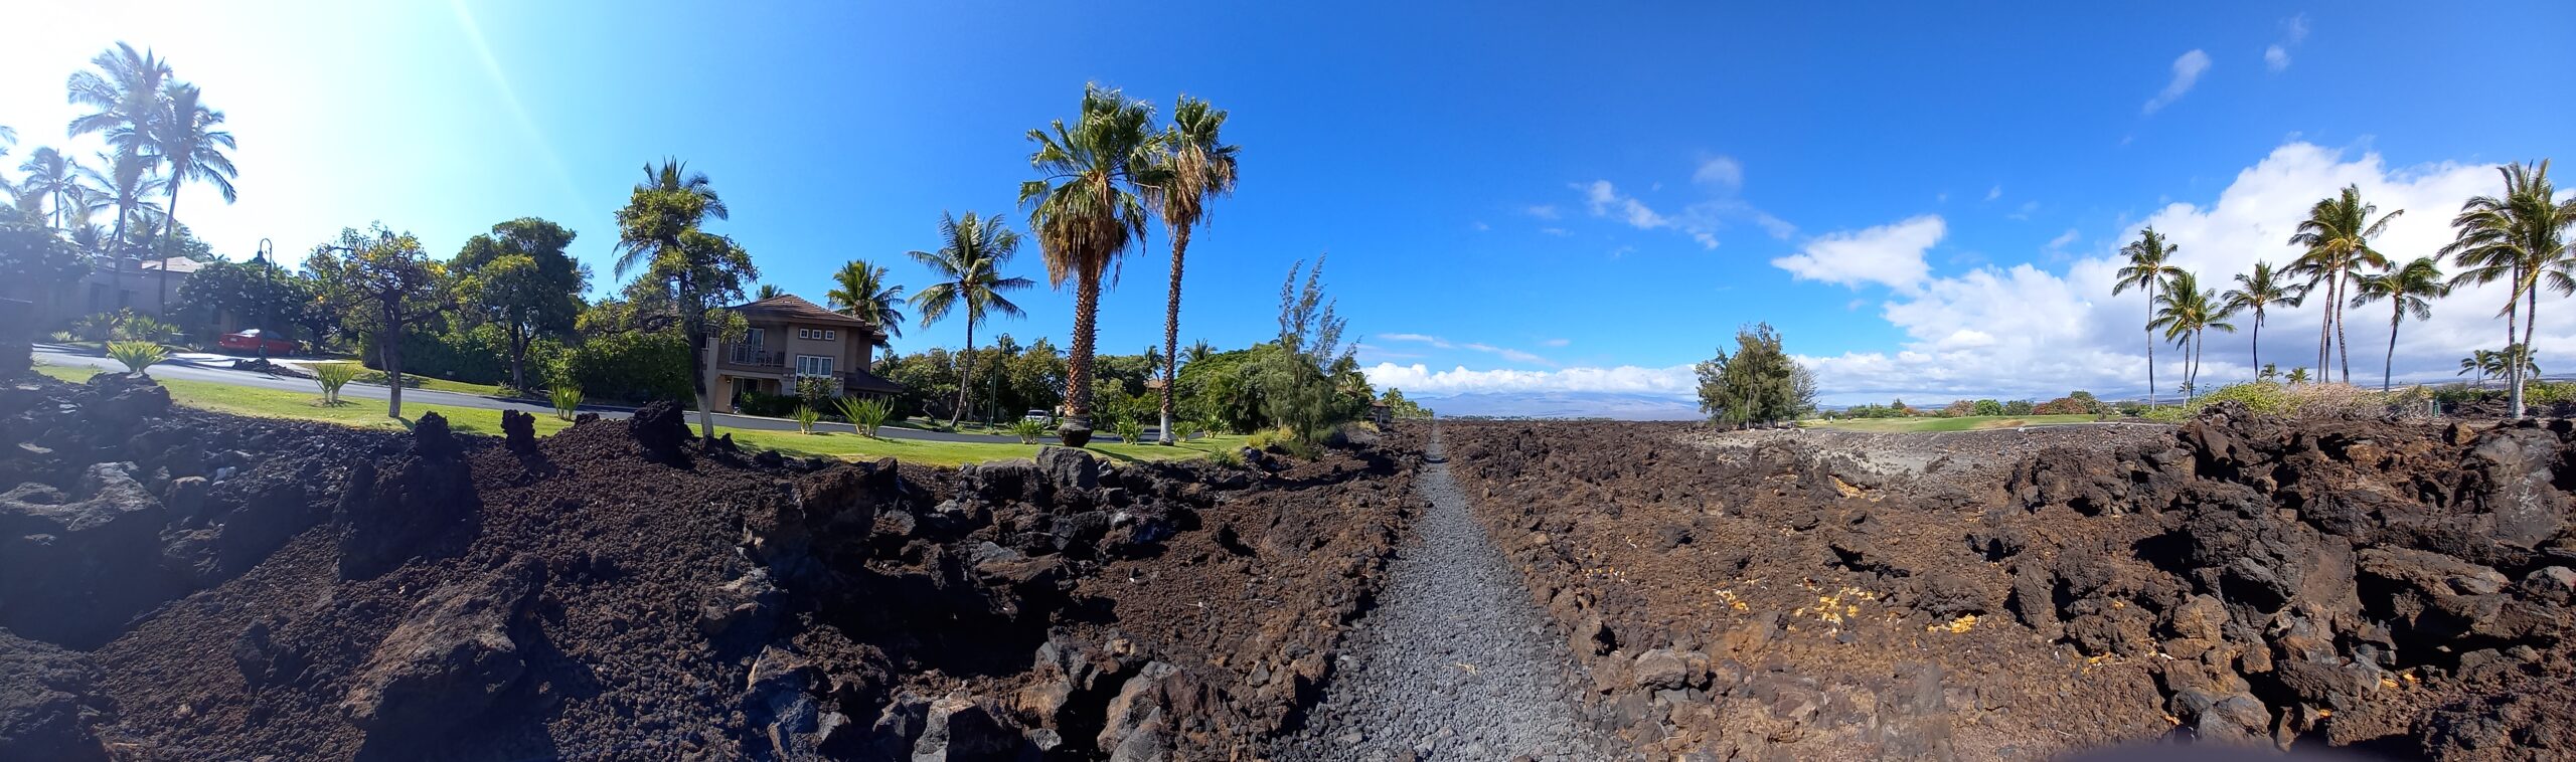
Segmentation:
<svg viewBox="0 0 2576 762">
<path fill-rule="evenodd" d="M 0 759 L 1252 757 L 1417 512 L 1401 435 L 827 466 L 667 407 L 489 440 L 157 391 L 0 394 Z"/>
</svg>

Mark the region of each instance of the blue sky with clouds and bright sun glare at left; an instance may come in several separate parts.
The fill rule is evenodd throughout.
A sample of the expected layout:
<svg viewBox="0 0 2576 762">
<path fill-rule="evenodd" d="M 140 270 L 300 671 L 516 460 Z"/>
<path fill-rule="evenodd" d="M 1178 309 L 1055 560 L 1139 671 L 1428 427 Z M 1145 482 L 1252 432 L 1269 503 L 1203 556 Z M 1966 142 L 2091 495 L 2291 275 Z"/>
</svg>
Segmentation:
<svg viewBox="0 0 2576 762">
<path fill-rule="evenodd" d="M 2138 394 L 2143 301 L 2094 281 L 2141 224 L 2226 281 L 2362 183 L 2429 252 L 2483 165 L 2571 154 L 2576 106 L 2494 72 L 2576 67 L 2535 33 L 2576 5 L 2094 5 L 54 3 L 0 49 L 0 124 L 18 154 L 64 144 L 62 77 L 152 46 L 242 139 L 242 201 L 180 209 L 219 252 L 374 219 L 453 252 L 546 216 L 600 281 L 639 165 L 677 154 L 762 281 L 822 301 L 850 257 L 922 283 L 902 252 L 940 211 L 1023 221 L 1023 134 L 1082 82 L 1190 93 L 1231 111 L 1244 180 L 1193 242 L 1185 340 L 1265 340 L 1280 275 L 1329 252 L 1381 386 L 1687 394 L 1682 366 L 1767 319 L 1829 402 Z M 1159 340 L 1164 263 L 1159 232 L 1126 260 L 1103 350 Z M 1043 278 L 1033 245 L 1018 270 Z M 2398 376 L 2501 335 L 2501 296 L 2458 299 Z M 1023 304 L 994 330 L 1064 335 L 1066 293 Z M 2313 330 L 2275 317 L 2264 348 L 2313 355 Z M 2208 373 L 2249 373 L 2244 340 Z"/>
</svg>

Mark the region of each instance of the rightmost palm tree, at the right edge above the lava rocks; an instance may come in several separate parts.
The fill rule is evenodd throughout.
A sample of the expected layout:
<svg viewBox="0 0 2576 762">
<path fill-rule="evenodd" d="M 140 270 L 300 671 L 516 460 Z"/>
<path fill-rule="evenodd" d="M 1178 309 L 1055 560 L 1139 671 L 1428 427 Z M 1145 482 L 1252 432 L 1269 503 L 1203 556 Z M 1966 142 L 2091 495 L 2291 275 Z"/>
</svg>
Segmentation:
<svg viewBox="0 0 2576 762">
<path fill-rule="evenodd" d="M 2568 247 L 2568 229 L 2576 227 L 2576 198 L 2558 201 L 2550 188 L 2550 162 L 2504 165 L 2504 198 L 2478 196 L 2450 219 L 2455 239 L 2442 247 L 2463 270 L 2458 283 L 2509 281 L 2504 296 L 2504 342 L 2524 353 L 2532 345 L 2532 327 L 2540 322 L 2540 286 L 2561 296 L 2576 293 L 2576 250 Z M 2514 319 L 2522 319 L 2522 337 L 2514 337 Z M 2522 371 L 2530 366 L 2506 360 L 2514 417 L 2522 417 Z M 2537 376 L 2537 373 L 2532 373 Z"/>
</svg>

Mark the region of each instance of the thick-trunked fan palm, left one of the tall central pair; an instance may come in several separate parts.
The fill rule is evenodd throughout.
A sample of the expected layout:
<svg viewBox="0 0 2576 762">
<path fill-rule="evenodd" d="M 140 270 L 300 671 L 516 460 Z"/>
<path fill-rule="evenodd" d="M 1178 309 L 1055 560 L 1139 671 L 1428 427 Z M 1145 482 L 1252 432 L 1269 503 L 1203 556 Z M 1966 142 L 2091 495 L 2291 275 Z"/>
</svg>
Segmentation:
<svg viewBox="0 0 2576 762">
<path fill-rule="evenodd" d="M 1162 136 L 1154 131 L 1154 106 L 1128 100 L 1113 88 L 1087 85 L 1082 90 L 1082 116 L 1066 126 L 1054 121 L 1054 131 L 1030 129 L 1028 142 L 1038 144 L 1028 165 L 1036 180 L 1020 183 L 1020 206 L 1028 206 L 1028 229 L 1046 255 L 1046 281 L 1064 288 L 1074 281 L 1074 337 L 1064 368 L 1064 427 L 1066 445 L 1084 445 L 1092 438 L 1092 340 L 1100 314 L 1100 275 L 1108 273 L 1128 245 L 1144 239 L 1146 206 L 1136 188 L 1159 185 L 1154 152 Z"/>
</svg>

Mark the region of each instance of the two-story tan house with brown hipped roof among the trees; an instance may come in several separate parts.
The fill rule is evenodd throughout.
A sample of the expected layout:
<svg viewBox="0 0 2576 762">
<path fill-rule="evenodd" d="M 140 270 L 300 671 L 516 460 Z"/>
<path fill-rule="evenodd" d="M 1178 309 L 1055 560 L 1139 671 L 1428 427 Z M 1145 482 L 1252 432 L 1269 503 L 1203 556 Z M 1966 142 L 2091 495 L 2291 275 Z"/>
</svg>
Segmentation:
<svg viewBox="0 0 2576 762">
<path fill-rule="evenodd" d="M 832 396 L 896 394 L 899 384 L 868 373 L 878 330 L 866 319 L 814 306 L 793 293 L 729 306 L 750 332 L 739 342 L 708 342 L 706 389 L 716 412 L 732 412 L 742 391 L 796 394 L 796 378 L 832 378 Z"/>
</svg>

